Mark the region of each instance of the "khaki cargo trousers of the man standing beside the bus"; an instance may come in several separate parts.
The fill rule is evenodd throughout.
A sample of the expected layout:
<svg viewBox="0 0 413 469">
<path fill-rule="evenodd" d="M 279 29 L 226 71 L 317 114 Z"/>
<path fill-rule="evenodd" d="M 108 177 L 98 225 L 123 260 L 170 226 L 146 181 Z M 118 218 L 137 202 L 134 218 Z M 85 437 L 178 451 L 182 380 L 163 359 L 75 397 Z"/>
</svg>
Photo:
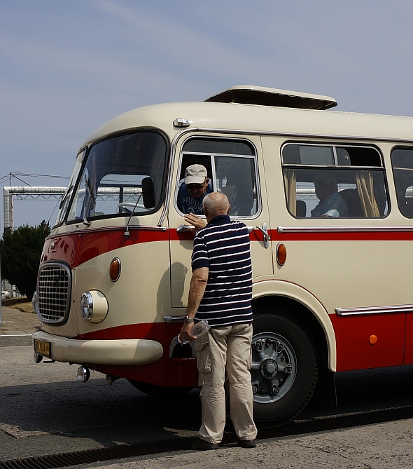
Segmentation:
<svg viewBox="0 0 413 469">
<path fill-rule="evenodd" d="M 252 323 L 211 327 L 195 341 L 198 370 L 203 375 L 200 438 L 222 440 L 225 427 L 225 371 L 230 390 L 230 415 L 240 440 L 254 440 L 251 388 Z"/>
</svg>

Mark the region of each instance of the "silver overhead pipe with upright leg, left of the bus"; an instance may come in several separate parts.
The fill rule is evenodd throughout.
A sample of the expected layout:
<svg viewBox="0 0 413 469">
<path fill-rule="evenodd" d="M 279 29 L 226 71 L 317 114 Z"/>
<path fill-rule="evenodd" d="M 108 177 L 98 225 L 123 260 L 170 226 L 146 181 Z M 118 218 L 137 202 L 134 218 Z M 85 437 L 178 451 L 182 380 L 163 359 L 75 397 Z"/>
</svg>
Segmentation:
<svg viewBox="0 0 413 469">
<path fill-rule="evenodd" d="M 3 187 L 4 230 L 14 229 L 13 198 L 21 200 L 59 200 L 66 187 L 51 186 L 5 186 Z"/>
</svg>

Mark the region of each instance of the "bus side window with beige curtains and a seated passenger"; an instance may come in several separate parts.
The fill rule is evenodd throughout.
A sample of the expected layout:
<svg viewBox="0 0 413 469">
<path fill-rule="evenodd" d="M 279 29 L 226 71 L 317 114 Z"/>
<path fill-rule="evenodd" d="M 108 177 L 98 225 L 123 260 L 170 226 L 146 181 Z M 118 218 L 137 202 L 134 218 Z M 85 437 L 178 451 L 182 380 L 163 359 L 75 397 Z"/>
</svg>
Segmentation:
<svg viewBox="0 0 413 469">
<path fill-rule="evenodd" d="M 288 211 L 296 218 L 377 218 L 388 213 L 386 179 L 372 147 L 286 144 Z"/>
</svg>

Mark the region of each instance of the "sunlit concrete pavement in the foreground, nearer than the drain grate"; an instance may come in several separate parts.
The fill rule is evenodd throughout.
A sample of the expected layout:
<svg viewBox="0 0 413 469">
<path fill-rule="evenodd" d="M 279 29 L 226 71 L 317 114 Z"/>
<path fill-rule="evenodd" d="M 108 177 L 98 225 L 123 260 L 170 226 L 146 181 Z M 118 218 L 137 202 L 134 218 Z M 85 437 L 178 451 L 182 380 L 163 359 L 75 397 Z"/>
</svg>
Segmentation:
<svg viewBox="0 0 413 469">
<path fill-rule="evenodd" d="M 105 469 L 404 469 L 413 468 L 413 420 L 285 437 L 255 449 L 225 447 L 121 462 L 83 465 Z"/>
</svg>

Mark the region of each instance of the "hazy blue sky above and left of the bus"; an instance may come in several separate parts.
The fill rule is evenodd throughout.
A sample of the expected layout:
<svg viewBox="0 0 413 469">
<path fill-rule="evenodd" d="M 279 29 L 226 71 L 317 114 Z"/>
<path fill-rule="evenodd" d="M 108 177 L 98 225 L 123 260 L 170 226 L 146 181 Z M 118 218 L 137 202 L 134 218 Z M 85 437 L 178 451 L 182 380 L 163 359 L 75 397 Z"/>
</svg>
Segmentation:
<svg viewBox="0 0 413 469">
<path fill-rule="evenodd" d="M 0 0 L 0 177 L 69 176 L 110 118 L 237 84 L 413 116 L 412 22 L 412 0 Z M 15 225 L 54 208 L 18 200 Z"/>
</svg>

